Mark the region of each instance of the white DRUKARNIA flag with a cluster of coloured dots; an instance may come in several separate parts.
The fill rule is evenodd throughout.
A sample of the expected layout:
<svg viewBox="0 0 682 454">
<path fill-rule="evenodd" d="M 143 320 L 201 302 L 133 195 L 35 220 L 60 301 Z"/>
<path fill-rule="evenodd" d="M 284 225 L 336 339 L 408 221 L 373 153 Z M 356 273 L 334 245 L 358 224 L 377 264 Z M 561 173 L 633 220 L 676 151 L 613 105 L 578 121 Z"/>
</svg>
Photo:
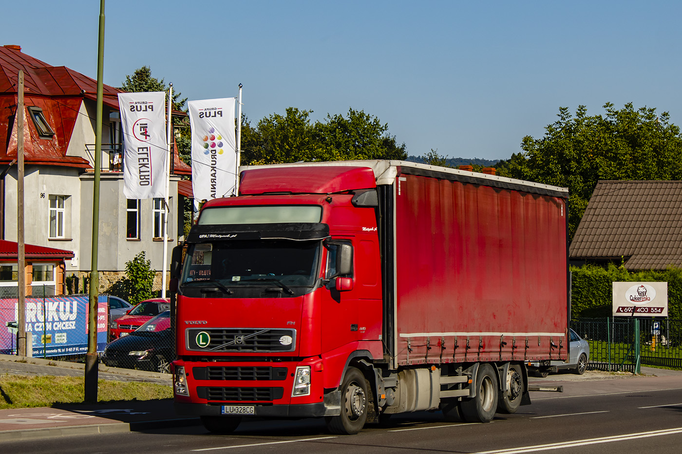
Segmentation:
<svg viewBox="0 0 682 454">
<path fill-rule="evenodd" d="M 235 98 L 188 102 L 192 128 L 194 200 L 226 197 L 235 190 Z"/>
</svg>

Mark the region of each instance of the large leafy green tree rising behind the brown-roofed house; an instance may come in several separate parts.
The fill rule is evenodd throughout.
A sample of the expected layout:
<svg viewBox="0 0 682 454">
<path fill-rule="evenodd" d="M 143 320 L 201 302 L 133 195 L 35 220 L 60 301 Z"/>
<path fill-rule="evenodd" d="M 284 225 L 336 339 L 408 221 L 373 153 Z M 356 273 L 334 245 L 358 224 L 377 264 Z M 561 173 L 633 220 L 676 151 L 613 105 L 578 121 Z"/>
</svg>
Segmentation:
<svg viewBox="0 0 682 454">
<path fill-rule="evenodd" d="M 522 153 L 496 166 L 501 176 L 568 187 L 570 239 L 597 181 L 682 179 L 682 137 L 668 112 L 632 103 L 604 108 L 606 116 L 588 116 L 585 106 L 575 116 L 559 108 L 544 137 L 524 137 Z"/>
</svg>

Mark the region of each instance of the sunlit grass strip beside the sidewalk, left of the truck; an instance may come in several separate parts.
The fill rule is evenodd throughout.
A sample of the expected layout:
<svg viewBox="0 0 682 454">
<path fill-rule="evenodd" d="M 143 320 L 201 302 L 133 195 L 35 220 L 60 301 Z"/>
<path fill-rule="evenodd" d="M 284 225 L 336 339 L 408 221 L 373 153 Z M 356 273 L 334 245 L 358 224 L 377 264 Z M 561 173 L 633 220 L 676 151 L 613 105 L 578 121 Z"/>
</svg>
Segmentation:
<svg viewBox="0 0 682 454">
<path fill-rule="evenodd" d="M 0 375 L 0 410 L 78 404 L 84 395 L 83 377 Z M 97 397 L 98 402 L 170 399 L 173 389 L 157 383 L 98 380 Z"/>
</svg>

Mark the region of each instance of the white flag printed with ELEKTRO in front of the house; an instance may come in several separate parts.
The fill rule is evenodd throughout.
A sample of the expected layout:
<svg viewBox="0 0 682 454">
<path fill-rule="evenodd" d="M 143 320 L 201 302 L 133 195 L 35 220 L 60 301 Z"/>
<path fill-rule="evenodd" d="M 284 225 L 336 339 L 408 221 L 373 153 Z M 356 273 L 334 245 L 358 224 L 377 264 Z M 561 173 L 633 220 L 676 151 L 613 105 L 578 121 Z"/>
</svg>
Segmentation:
<svg viewBox="0 0 682 454">
<path fill-rule="evenodd" d="M 166 92 L 119 93 L 123 127 L 123 194 L 166 195 Z"/>
</svg>

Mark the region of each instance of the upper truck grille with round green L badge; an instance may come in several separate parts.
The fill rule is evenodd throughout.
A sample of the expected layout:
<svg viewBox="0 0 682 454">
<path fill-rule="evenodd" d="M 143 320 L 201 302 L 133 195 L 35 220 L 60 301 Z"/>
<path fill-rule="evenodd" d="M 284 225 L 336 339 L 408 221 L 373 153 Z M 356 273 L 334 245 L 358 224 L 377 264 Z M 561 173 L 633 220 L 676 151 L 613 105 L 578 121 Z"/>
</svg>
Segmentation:
<svg viewBox="0 0 682 454">
<path fill-rule="evenodd" d="M 295 329 L 189 328 L 188 350 L 203 352 L 293 352 Z"/>
</svg>

